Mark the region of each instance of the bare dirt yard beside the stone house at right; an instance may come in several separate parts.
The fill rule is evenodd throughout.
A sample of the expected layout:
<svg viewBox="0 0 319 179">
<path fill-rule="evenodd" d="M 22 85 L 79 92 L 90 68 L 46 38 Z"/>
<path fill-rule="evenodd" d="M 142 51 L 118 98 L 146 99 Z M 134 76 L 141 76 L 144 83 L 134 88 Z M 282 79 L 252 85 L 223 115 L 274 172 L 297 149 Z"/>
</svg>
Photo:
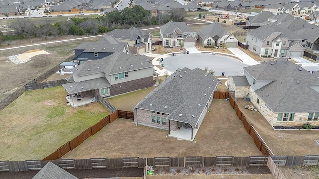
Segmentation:
<svg viewBox="0 0 319 179">
<path fill-rule="evenodd" d="M 258 112 L 244 108 L 247 104 L 243 99 L 236 99 L 240 110 L 247 121 L 255 127 L 269 148 L 274 149 L 274 155 L 312 155 L 319 154 L 319 147 L 314 140 L 319 140 L 319 130 L 277 130 L 275 131 L 267 120 Z M 280 138 L 279 135 L 284 135 Z"/>
</svg>

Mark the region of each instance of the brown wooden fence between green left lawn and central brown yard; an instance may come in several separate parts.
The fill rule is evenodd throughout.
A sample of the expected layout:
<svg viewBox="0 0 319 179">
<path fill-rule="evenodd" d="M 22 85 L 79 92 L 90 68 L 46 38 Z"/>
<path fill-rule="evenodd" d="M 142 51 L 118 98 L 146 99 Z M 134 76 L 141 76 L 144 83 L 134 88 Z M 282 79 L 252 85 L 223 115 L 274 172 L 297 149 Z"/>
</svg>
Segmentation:
<svg viewBox="0 0 319 179">
<path fill-rule="evenodd" d="M 94 126 L 89 127 L 85 131 L 81 132 L 80 135 L 75 137 L 74 139 L 70 140 L 60 148 L 58 148 L 55 152 L 48 155 L 43 160 L 56 160 L 60 159 L 62 156 L 64 156 L 69 151 L 75 149 L 77 146 L 83 143 L 87 138 L 89 138 L 91 135 L 96 134 L 99 132 L 104 126 L 107 124 L 113 122 L 115 119 L 118 118 L 118 112 L 115 111 L 112 114 L 104 117 L 100 122 L 96 123 Z"/>
</svg>

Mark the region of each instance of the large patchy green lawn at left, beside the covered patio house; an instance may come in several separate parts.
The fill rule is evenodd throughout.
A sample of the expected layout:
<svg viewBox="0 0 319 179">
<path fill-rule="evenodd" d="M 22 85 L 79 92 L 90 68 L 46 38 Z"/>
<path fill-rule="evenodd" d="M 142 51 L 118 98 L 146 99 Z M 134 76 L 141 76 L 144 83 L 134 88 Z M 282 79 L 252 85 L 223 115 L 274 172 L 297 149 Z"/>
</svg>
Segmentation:
<svg viewBox="0 0 319 179">
<path fill-rule="evenodd" d="M 43 159 L 108 115 L 99 103 L 66 105 L 63 87 L 25 92 L 0 112 L 0 160 Z"/>
</svg>

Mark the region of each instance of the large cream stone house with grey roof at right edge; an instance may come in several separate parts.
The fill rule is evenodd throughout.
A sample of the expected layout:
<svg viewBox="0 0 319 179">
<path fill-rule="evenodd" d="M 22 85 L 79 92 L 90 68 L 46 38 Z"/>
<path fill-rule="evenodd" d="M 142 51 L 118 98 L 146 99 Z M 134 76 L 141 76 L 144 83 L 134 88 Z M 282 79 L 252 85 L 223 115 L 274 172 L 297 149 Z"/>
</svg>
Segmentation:
<svg viewBox="0 0 319 179">
<path fill-rule="evenodd" d="M 244 76 L 228 78 L 228 90 L 235 98 L 249 96 L 265 119 L 278 129 L 319 126 L 319 77 L 288 59 L 279 58 L 244 67 Z"/>
</svg>

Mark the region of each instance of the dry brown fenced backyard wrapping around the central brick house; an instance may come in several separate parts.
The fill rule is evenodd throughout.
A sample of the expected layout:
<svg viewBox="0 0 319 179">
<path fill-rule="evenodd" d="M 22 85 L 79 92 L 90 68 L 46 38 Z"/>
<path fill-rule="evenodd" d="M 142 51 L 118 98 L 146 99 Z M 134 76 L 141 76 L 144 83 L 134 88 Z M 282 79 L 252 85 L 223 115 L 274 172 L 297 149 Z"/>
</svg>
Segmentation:
<svg viewBox="0 0 319 179">
<path fill-rule="evenodd" d="M 62 158 L 261 155 L 226 100 L 214 99 L 209 111 L 197 132 L 196 143 L 165 137 L 167 130 L 117 119 Z"/>
</svg>

